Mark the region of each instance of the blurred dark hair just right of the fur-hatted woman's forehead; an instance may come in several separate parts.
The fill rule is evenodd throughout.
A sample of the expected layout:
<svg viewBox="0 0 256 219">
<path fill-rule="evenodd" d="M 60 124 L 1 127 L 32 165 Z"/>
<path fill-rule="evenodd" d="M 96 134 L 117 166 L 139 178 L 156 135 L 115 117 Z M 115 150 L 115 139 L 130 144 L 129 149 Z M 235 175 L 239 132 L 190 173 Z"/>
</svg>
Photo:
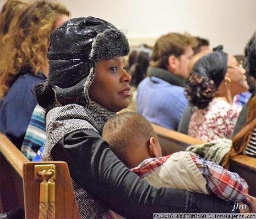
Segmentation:
<svg viewBox="0 0 256 219">
<path fill-rule="evenodd" d="M 128 60 L 127 71 L 131 75 L 131 86 L 137 87 L 138 84 L 147 76 L 147 68 L 151 59 L 152 48 L 143 44 L 134 47 Z"/>
</svg>

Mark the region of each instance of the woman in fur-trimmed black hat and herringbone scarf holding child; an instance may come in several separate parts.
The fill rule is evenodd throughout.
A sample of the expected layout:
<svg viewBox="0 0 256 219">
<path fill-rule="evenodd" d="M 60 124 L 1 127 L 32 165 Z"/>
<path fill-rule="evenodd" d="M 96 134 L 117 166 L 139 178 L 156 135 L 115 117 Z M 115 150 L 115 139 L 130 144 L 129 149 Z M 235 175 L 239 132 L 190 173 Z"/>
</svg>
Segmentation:
<svg viewBox="0 0 256 219">
<path fill-rule="evenodd" d="M 183 190 L 156 189 L 133 174 L 100 136 L 129 104 L 125 35 L 107 21 L 74 18 L 50 36 L 49 80 L 34 93 L 48 110 L 43 161 L 67 162 L 81 218 L 133 219 L 156 212 L 227 212 L 226 202 Z M 212 209 L 215 206 L 216 209 Z"/>
</svg>

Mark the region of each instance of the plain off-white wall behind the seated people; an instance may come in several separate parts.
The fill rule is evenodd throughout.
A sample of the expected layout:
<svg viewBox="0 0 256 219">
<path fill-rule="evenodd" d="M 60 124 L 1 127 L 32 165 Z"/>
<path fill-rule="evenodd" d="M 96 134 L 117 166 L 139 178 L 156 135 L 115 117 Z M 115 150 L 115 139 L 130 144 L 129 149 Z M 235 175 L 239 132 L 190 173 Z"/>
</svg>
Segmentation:
<svg viewBox="0 0 256 219">
<path fill-rule="evenodd" d="M 0 0 L 2 5 L 5 0 Z M 60 0 L 72 17 L 96 16 L 128 29 L 131 45 L 167 32 L 208 38 L 211 47 L 241 54 L 256 31 L 256 0 Z"/>
</svg>

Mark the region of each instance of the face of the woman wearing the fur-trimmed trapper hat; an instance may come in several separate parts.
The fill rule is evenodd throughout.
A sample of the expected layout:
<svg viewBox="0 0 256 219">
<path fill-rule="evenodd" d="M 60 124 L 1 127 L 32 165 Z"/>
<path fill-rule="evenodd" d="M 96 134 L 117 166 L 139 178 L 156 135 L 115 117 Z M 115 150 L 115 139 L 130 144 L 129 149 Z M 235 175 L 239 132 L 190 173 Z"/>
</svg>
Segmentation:
<svg viewBox="0 0 256 219">
<path fill-rule="evenodd" d="M 124 57 L 96 62 L 89 97 L 110 111 L 118 112 L 129 105 L 131 75 L 124 69 Z"/>
</svg>

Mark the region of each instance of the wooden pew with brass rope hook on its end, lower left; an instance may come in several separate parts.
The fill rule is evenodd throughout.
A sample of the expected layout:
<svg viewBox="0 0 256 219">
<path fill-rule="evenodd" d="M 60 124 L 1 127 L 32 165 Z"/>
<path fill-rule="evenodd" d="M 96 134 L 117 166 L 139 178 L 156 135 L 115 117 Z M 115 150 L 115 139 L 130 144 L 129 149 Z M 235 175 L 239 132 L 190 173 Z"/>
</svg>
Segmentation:
<svg viewBox="0 0 256 219">
<path fill-rule="evenodd" d="M 65 162 L 30 162 L 2 133 L 0 133 L 1 212 L 23 207 L 26 219 L 38 218 L 39 191 L 42 181 L 38 180 L 37 170 L 45 169 L 45 166 L 42 167 L 45 164 L 50 167 L 54 165 L 55 168 L 55 218 L 80 219 L 67 164 Z M 39 169 L 35 170 L 35 165 Z"/>
</svg>

